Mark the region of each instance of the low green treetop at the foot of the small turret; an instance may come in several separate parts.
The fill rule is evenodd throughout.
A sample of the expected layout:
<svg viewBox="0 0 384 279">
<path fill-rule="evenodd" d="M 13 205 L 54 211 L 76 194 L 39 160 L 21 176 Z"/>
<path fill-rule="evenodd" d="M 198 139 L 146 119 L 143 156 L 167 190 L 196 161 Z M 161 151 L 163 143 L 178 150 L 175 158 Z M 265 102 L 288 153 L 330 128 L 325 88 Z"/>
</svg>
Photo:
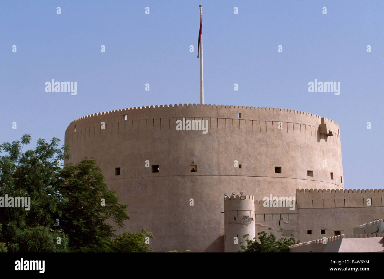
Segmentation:
<svg viewBox="0 0 384 279">
<path fill-rule="evenodd" d="M 268 228 L 268 230 L 272 230 L 272 228 Z M 281 228 L 280 231 L 284 231 L 283 228 Z M 295 240 L 295 235 L 291 234 L 291 237 L 289 239 L 286 239 L 285 237 L 280 238 L 276 241 L 276 236 L 270 232 L 268 235 L 265 231 L 260 231 L 257 234 L 259 237 L 260 243 L 257 241 L 257 237 L 253 238 L 253 240 L 250 239 L 249 235 L 244 235 L 244 238 L 246 238 L 245 242 L 247 243 L 247 246 L 243 245 L 243 242 L 240 242 L 242 244 L 240 246 L 240 250 L 238 252 L 264 252 L 264 253 L 273 253 L 273 252 L 289 252 L 289 246 L 293 244 L 297 244 L 300 241 Z M 281 235 L 284 236 L 284 233 L 281 233 Z"/>
</svg>

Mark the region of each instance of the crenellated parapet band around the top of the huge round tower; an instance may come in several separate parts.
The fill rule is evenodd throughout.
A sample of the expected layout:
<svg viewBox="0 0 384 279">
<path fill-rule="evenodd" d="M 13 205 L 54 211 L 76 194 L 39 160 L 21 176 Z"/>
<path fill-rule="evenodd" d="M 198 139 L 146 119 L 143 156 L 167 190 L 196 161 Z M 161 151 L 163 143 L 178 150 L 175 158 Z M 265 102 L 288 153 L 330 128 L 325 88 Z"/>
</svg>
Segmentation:
<svg viewBox="0 0 384 279">
<path fill-rule="evenodd" d="M 118 133 L 156 130 L 156 128 L 169 130 L 175 126 L 176 119 L 182 117 L 209 120 L 212 129 L 292 133 L 324 139 L 327 136 L 320 135 L 319 130 L 325 121 L 327 129 L 333 130 L 335 137 L 328 140 L 338 144 L 340 142 L 338 124 L 313 113 L 282 108 L 207 104 L 152 105 L 93 113 L 71 121 L 66 129 L 65 138 L 92 127 L 100 130 L 102 122 L 111 127 L 111 133 L 113 130 Z"/>
</svg>

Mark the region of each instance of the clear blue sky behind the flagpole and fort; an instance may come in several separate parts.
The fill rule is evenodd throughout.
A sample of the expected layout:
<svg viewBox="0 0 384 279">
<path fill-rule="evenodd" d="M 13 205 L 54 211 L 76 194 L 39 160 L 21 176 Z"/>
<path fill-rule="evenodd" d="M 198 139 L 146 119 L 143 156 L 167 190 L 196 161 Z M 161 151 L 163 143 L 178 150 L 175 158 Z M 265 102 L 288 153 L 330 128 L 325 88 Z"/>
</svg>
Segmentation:
<svg viewBox="0 0 384 279">
<path fill-rule="evenodd" d="M 0 142 L 30 133 L 30 148 L 38 138 L 64 144 L 84 115 L 199 103 L 199 4 L 205 103 L 330 118 L 345 188 L 383 188 L 383 1 L 2 0 Z M 51 79 L 76 81 L 77 94 L 45 92 Z M 340 82 L 340 94 L 308 92 L 315 79 Z"/>
</svg>

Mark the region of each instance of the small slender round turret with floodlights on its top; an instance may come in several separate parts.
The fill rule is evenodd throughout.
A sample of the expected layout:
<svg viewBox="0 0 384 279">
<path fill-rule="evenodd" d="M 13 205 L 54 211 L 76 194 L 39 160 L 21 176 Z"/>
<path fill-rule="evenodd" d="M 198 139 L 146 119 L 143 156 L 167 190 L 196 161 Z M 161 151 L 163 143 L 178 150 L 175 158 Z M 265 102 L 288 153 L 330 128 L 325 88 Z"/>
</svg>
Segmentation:
<svg viewBox="0 0 384 279">
<path fill-rule="evenodd" d="M 253 196 L 231 195 L 224 197 L 224 252 L 237 252 L 244 235 L 255 237 L 255 201 Z"/>
</svg>

